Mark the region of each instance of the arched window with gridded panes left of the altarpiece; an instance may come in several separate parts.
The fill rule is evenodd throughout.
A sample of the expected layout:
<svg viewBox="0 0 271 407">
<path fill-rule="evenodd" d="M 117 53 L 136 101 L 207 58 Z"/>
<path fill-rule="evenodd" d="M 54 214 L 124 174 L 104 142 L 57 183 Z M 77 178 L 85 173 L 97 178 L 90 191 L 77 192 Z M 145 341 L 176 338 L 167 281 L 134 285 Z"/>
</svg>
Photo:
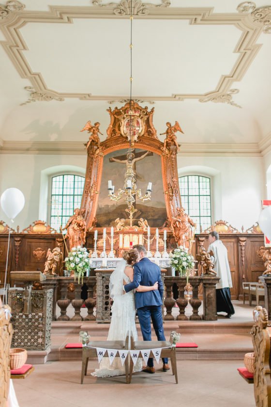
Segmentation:
<svg viewBox="0 0 271 407">
<path fill-rule="evenodd" d="M 74 174 L 52 177 L 50 225 L 59 231 L 73 215 L 75 208 L 80 208 L 85 178 Z"/>
</svg>

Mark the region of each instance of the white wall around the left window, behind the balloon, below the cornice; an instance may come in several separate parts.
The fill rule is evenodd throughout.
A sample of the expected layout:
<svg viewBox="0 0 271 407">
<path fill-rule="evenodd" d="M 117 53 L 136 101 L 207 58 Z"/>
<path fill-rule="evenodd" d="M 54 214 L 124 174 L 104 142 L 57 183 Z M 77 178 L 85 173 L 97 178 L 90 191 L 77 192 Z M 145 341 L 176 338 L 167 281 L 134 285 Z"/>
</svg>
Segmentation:
<svg viewBox="0 0 271 407">
<path fill-rule="evenodd" d="M 19 188 L 25 195 L 26 203 L 22 212 L 15 218 L 14 226 L 19 225 L 20 230 L 38 220 L 43 214 L 45 219 L 48 205 L 48 191 L 45 176 L 50 175 L 50 168 L 55 167 L 56 172 L 75 168 L 75 172 L 85 175 L 87 163 L 86 156 L 61 155 L 1 155 L 0 156 L 0 193 L 6 188 Z M 46 169 L 49 169 L 45 171 Z M 43 188 L 41 190 L 41 182 Z M 40 195 L 43 202 L 40 205 Z M 43 204 L 42 204 L 43 203 Z M 47 206 L 47 208 L 46 208 Z M 42 215 L 41 215 L 42 216 Z M 0 208 L 0 220 L 8 222 L 7 217 Z"/>
</svg>

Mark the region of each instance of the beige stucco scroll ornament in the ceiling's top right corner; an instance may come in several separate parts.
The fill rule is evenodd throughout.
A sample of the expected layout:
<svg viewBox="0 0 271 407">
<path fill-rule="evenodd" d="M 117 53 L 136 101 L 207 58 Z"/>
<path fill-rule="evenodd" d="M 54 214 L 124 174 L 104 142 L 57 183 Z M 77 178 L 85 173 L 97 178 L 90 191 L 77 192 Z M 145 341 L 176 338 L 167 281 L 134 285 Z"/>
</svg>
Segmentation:
<svg viewBox="0 0 271 407">
<path fill-rule="evenodd" d="M 253 1 L 244 1 L 237 7 L 239 13 L 250 13 L 253 22 L 262 26 L 265 34 L 271 34 L 271 6 L 258 7 Z"/>
</svg>

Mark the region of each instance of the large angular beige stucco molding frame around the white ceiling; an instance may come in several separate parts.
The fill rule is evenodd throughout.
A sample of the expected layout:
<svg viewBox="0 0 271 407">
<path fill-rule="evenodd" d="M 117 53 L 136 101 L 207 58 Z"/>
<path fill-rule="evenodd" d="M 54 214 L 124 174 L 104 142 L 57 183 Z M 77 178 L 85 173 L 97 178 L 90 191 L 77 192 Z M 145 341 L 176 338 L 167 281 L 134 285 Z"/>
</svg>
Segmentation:
<svg viewBox="0 0 271 407">
<path fill-rule="evenodd" d="M 171 94 L 171 95 L 135 95 L 139 100 L 150 101 L 183 101 L 185 99 L 198 99 L 200 101 L 212 101 L 215 103 L 228 103 L 238 106 L 232 101 L 232 85 L 241 81 L 250 64 L 254 61 L 261 45 L 256 41 L 263 31 L 263 25 L 254 21 L 251 14 L 247 13 L 213 13 L 213 8 L 208 7 L 168 7 L 168 2 L 153 4 L 148 8 L 148 16 L 137 15 L 136 18 L 148 19 L 182 19 L 189 20 L 190 25 L 233 25 L 241 31 L 241 37 L 233 50 L 238 53 L 236 63 L 227 75 L 222 75 L 215 89 L 205 94 Z M 111 3 L 112 4 L 112 3 Z M 143 4 L 143 3 L 142 3 Z M 147 4 L 147 3 L 146 3 Z M 102 6 L 102 7 L 101 7 Z M 40 99 L 30 96 L 34 100 L 62 100 L 65 98 L 78 98 L 80 100 L 105 100 L 120 101 L 126 99 L 127 95 L 93 95 L 88 93 L 58 92 L 48 89 L 42 72 L 33 72 L 23 51 L 27 50 L 27 44 L 20 32 L 25 24 L 39 23 L 65 23 L 73 24 L 74 18 L 122 18 L 123 16 L 112 13 L 112 7 L 106 5 L 73 7 L 73 6 L 50 6 L 49 11 L 27 11 L 15 9 L 8 14 L 7 18 L 0 20 L 0 29 L 6 40 L 1 41 L 10 60 L 14 64 L 21 78 L 29 79 L 33 93 L 40 94 Z M 155 7 L 156 6 L 156 7 Z M 163 6 L 163 7 L 162 7 Z M 124 16 L 124 18 L 127 18 Z M 31 91 L 32 92 L 32 91 Z M 50 99 L 51 98 L 51 99 Z M 239 107 L 239 106 L 238 106 Z"/>
</svg>

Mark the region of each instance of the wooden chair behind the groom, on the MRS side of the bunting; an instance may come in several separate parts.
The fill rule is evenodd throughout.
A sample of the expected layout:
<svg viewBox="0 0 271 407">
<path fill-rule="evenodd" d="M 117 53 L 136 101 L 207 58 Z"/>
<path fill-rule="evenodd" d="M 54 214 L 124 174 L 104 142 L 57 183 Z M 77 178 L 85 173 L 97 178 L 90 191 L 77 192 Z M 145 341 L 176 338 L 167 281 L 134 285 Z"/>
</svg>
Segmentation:
<svg viewBox="0 0 271 407">
<path fill-rule="evenodd" d="M 170 358 L 172 375 L 175 376 L 176 384 L 178 384 L 177 362 L 176 362 L 176 347 L 169 341 L 134 341 L 131 335 L 131 350 L 155 349 L 164 348 L 161 350 L 161 358 Z M 133 361 L 130 361 L 129 383 L 132 380 Z"/>
</svg>

